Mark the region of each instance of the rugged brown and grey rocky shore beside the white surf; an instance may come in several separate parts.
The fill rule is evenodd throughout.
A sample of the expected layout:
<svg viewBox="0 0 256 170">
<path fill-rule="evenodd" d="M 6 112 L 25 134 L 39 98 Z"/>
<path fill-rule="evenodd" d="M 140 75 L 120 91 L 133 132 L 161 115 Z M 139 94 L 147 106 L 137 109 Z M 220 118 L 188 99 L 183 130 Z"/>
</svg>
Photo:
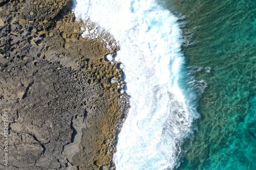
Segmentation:
<svg viewBox="0 0 256 170">
<path fill-rule="evenodd" d="M 75 21 L 72 4 L 0 0 L 2 129 L 4 112 L 9 118 L 0 169 L 114 169 L 128 96 L 120 63 L 104 56 L 119 46 L 105 33 L 82 38 L 86 23 Z"/>
</svg>

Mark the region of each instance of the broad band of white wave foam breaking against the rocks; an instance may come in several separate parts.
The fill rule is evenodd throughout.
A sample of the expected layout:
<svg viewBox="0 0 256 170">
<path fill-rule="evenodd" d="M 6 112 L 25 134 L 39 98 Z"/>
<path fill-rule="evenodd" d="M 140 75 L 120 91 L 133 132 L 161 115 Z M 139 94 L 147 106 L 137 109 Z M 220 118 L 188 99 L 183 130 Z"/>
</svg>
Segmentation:
<svg viewBox="0 0 256 170">
<path fill-rule="evenodd" d="M 115 60 L 125 65 L 132 98 L 118 135 L 116 169 L 174 168 L 198 116 L 178 84 L 184 62 L 178 18 L 154 0 L 74 0 L 73 12 L 110 32 L 121 48 Z"/>
</svg>

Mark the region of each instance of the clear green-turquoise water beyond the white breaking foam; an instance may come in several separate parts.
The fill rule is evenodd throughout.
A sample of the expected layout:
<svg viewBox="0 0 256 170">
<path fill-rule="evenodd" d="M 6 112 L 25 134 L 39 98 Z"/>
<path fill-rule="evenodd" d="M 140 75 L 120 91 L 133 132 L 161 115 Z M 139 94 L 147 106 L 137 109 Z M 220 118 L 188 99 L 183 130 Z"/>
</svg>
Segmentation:
<svg viewBox="0 0 256 170">
<path fill-rule="evenodd" d="M 256 1 L 168 1 L 188 40 L 187 70 L 207 88 L 177 169 L 256 169 Z"/>
</svg>

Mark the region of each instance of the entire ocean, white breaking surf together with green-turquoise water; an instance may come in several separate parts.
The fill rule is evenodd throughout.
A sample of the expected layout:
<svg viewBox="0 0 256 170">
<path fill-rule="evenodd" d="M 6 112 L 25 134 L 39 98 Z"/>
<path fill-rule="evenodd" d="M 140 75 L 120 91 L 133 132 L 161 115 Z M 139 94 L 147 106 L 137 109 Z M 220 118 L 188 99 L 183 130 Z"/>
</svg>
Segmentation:
<svg viewBox="0 0 256 170">
<path fill-rule="evenodd" d="M 256 169 L 255 1 L 73 2 L 120 45 L 116 169 Z"/>
</svg>

